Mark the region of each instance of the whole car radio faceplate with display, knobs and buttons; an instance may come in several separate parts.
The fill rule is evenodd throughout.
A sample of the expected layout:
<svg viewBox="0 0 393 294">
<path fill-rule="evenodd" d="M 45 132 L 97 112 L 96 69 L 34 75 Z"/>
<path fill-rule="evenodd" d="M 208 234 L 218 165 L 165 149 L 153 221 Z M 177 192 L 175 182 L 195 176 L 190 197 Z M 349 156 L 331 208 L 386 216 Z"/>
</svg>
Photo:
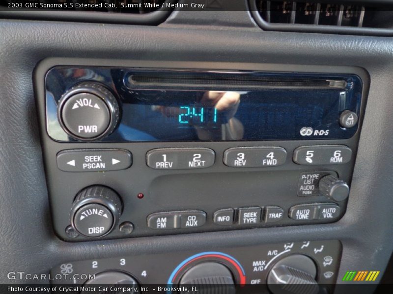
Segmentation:
<svg viewBox="0 0 393 294">
<path fill-rule="evenodd" d="M 183 73 L 64 66 L 47 73 L 44 136 L 55 141 L 46 140 L 50 147 L 45 157 L 60 238 L 83 241 L 328 223 L 344 215 L 365 105 L 358 75 Z M 130 76 L 136 75 L 137 90 L 130 85 Z M 240 93 L 240 98 L 225 100 L 227 93 Z M 200 102 L 206 95 L 212 95 L 216 106 Z M 217 110 L 222 99 L 229 106 Z M 242 110 L 247 101 L 251 106 Z M 81 118 L 99 119 L 101 102 L 109 109 L 104 116 L 108 123 L 101 127 L 106 136 L 90 136 L 94 128 L 88 126 L 93 124 L 74 128 Z M 71 112 L 89 112 L 64 121 L 67 103 Z M 136 112 L 136 105 L 143 112 Z M 299 115 L 297 107 L 312 111 Z M 256 116 L 247 116 L 253 110 L 261 119 L 254 124 Z M 141 114 L 150 116 L 143 119 Z M 113 127 L 110 122 L 118 123 Z M 107 188 L 120 202 L 108 201 Z M 108 221 L 111 216 L 113 223 Z M 84 220 L 91 221 L 83 229 L 70 227 Z"/>
</svg>

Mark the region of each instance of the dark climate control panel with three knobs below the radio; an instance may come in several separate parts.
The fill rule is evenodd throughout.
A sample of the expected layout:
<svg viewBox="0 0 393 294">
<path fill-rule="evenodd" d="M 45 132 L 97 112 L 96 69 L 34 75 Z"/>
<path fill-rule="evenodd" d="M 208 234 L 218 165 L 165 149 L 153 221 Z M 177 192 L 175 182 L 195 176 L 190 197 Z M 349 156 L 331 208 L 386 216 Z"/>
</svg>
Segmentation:
<svg viewBox="0 0 393 294">
<path fill-rule="evenodd" d="M 117 293 L 134 293 L 131 288 L 140 293 L 211 293 L 210 288 L 224 294 L 329 294 L 340 257 L 339 241 L 288 242 L 77 261 L 59 265 L 51 275 L 63 277 L 54 283 L 72 283 L 81 290 L 107 287 L 113 293 L 111 287 L 129 288 Z"/>
</svg>

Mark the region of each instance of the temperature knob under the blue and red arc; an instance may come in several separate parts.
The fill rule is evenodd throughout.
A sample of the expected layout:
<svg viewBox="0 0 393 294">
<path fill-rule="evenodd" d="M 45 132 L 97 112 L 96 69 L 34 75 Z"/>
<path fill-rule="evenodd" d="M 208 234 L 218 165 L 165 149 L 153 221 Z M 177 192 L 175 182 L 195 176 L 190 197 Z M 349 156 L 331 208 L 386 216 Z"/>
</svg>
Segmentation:
<svg viewBox="0 0 393 294">
<path fill-rule="evenodd" d="M 199 294 L 235 294 L 236 292 L 231 271 L 217 262 L 203 262 L 193 266 L 182 276 L 180 284 L 198 285 Z"/>
</svg>

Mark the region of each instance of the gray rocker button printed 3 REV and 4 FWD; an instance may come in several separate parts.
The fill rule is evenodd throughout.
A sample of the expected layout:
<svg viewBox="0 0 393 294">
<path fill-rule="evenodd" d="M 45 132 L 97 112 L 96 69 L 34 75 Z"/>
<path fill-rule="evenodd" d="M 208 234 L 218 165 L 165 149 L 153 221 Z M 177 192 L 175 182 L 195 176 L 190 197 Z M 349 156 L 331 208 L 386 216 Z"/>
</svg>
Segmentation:
<svg viewBox="0 0 393 294">
<path fill-rule="evenodd" d="M 274 167 L 285 160 L 286 151 L 281 147 L 235 147 L 224 152 L 224 164 L 233 168 Z"/>
</svg>

